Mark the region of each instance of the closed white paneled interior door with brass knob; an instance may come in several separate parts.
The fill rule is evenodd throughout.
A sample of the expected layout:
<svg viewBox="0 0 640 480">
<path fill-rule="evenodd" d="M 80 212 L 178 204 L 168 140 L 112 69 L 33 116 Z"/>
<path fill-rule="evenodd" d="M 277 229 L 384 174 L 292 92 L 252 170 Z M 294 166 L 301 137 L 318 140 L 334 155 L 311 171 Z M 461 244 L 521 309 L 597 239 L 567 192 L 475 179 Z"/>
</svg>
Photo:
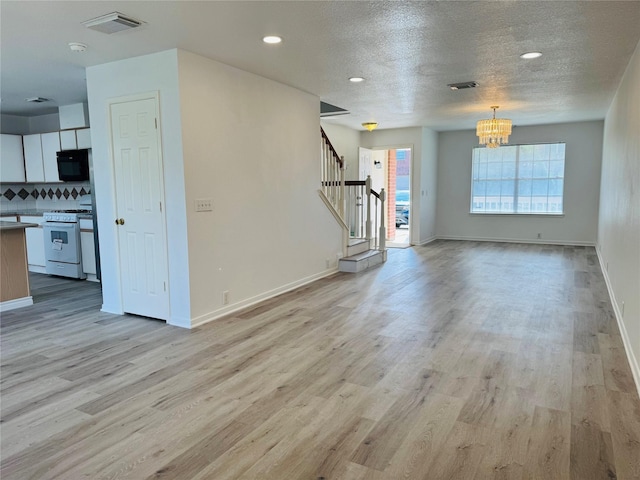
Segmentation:
<svg viewBox="0 0 640 480">
<path fill-rule="evenodd" d="M 168 320 L 164 182 L 157 112 L 157 98 L 110 105 L 123 309 Z"/>
</svg>

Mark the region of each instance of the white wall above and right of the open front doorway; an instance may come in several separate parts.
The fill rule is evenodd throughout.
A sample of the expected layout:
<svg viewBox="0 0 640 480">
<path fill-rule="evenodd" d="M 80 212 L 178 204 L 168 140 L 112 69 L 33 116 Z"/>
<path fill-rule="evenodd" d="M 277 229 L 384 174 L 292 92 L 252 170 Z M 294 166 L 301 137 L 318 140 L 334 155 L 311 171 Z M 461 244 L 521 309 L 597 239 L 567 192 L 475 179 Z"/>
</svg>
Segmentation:
<svg viewBox="0 0 640 480">
<path fill-rule="evenodd" d="M 428 128 L 398 128 L 360 132 L 366 148 L 411 147 L 411 238 L 413 245 L 433 239 L 435 234 L 437 142 Z"/>
</svg>

